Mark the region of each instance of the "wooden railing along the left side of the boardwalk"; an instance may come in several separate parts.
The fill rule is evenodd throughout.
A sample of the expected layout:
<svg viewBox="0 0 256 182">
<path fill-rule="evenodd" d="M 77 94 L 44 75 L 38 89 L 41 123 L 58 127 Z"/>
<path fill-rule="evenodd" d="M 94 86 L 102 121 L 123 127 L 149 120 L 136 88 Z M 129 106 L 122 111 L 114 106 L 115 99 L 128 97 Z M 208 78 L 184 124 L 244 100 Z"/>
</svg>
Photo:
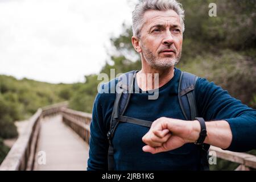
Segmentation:
<svg viewBox="0 0 256 182">
<path fill-rule="evenodd" d="M 33 170 L 40 133 L 40 119 L 58 113 L 61 108 L 67 107 L 67 104 L 67 102 L 62 102 L 42 109 L 39 108 L 28 120 L 27 129 L 19 135 L 13 147 L 11 147 L 0 166 L 0 171 Z"/>
</svg>

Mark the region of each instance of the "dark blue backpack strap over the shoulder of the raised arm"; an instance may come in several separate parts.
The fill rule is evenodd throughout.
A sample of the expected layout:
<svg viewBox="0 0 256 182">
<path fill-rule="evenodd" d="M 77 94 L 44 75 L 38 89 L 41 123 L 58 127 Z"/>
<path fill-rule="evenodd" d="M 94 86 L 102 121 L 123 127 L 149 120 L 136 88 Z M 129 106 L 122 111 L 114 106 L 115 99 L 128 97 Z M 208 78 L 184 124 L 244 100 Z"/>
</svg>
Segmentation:
<svg viewBox="0 0 256 182">
<path fill-rule="evenodd" d="M 197 78 L 197 76 L 187 72 L 181 72 L 180 75 L 178 98 L 186 120 L 193 120 L 198 115 L 195 100 Z"/>
</svg>

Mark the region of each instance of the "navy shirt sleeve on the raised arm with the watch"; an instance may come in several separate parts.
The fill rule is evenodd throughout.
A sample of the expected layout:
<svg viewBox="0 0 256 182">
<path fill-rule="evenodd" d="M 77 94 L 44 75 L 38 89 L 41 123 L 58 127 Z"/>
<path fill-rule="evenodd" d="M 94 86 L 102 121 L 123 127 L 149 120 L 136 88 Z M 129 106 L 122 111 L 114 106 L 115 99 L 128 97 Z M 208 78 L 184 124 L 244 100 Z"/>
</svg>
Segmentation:
<svg viewBox="0 0 256 182">
<path fill-rule="evenodd" d="M 196 82 L 196 103 L 205 121 L 225 120 L 232 130 L 232 143 L 225 150 L 245 152 L 256 149 L 256 110 L 243 105 L 226 90 L 205 78 Z"/>
</svg>

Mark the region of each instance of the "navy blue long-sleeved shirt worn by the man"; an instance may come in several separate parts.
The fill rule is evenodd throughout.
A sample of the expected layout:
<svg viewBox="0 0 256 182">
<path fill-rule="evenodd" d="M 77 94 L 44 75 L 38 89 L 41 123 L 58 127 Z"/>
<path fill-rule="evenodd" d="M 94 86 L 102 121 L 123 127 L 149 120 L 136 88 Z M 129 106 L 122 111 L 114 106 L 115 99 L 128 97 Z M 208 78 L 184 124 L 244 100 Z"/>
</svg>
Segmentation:
<svg viewBox="0 0 256 182">
<path fill-rule="evenodd" d="M 177 97 L 180 74 L 181 71 L 175 68 L 174 77 L 159 88 L 157 100 L 148 100 L 150 93 L 132 94 L 124 115 L 152 122 L 160 117 L 185 120 Z M 117 84 L 117 79 L 113 81 Z M 197 80 L 195 94 L 199 117 L 205 121 L 226 120 L 229 123 L 233 138 L 226 150 L 242 152 L 256 148 L 256 110 L 205 78 Z M 114 100 L 115 93 L 98 93 L 94 101 L 88 170 L 108 170 L 106 136 Z M 142 137 L 148 130 L 132 123 L 119 123 L 112 140 L 115 170 L 199 169 L 200 151 L 193 143 L 159 154 L 143 152 Z"/>
</svg>

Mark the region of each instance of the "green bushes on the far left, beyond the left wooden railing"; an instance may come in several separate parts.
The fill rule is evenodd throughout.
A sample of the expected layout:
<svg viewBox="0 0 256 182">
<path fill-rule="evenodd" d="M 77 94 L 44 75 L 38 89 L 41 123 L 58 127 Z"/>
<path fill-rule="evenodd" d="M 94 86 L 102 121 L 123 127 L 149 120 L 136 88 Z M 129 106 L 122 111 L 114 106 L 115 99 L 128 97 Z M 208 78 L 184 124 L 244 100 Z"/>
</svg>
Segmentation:
<svg viewBox="0 0 256 182">
<path fill-rule="evenodd" d="M 27 119 L 39 107 L 63 101 L 68 86 L 0 75 L 0 137 L 16 137 L 14 121 Z"/>
</svg>

